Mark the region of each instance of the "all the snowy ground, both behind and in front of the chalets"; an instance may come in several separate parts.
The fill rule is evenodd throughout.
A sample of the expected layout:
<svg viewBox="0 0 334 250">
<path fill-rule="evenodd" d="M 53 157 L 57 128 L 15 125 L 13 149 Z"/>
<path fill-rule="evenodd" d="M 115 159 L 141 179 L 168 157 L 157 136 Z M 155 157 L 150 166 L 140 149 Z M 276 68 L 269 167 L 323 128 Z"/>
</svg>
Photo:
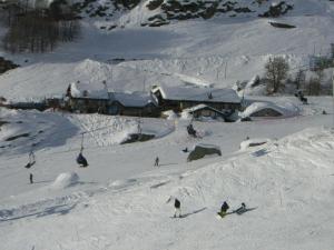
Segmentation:
<svg viewBox="0 0 334 250">
<path fill-rule="evenodd" d="M 223 16 L 140 27 L 138 8 L 119 19 L 124 29 L 99 30 L 99 22 L 84 20 L 81 39 L 53 52 L 0 51 L 21 64 L 0 76 L 0 97 L 60 96 L 78 80 L 106 80 L 118 92 L 157 84 L 235 87 L 262 76 L 273 54 L 286 57 L 293 74 L 334 41 L 334 2 L 295 2 L 294 11 L 276 19 L 293 30 L 273 28 L 271 19 Z M 333 98 L 307 97 L 303 106 L 295 97 L 254 93 L 245 92 L 247 103 L 278 107 L 285 116 L 194 122 L 197 139 L 187 134 L 189 120 L 175 116 L 139 120 L 1 108 L 0 250 L 332 250 Z M 120 144 L 138 123 L 155 139 Z M 88 168 L 76 162 L 82 133 Z M 267 143 L 248 148 L 242 143 L 247 137 Z M 198 143 L 215 144 L 223 156 L 188 163 L 183 149 Z M 28 170 L 31 149 L 36 164 Z M 170 218 L 170 196 L 181 201 L 184 218 Z M 230 210 L 242 202 L 252 210 L 217 219 L 224 200 Z"/>
</svg>

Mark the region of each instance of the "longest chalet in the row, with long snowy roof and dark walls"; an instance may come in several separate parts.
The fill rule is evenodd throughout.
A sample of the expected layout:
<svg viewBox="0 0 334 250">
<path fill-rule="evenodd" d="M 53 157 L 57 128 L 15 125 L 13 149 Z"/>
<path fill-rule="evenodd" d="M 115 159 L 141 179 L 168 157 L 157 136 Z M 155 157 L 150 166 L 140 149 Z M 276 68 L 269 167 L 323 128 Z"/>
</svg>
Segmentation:
<svg viewBox="0 0 334 250">
<path fill-rule="evenodd" d="M 240 98 L 233 89 L 155 86 L 151 94 L 156 97 L 163 111 L 180 112 L 198 104 L 206 104 L 218 111 L 240 108 Z"/>
</svg>

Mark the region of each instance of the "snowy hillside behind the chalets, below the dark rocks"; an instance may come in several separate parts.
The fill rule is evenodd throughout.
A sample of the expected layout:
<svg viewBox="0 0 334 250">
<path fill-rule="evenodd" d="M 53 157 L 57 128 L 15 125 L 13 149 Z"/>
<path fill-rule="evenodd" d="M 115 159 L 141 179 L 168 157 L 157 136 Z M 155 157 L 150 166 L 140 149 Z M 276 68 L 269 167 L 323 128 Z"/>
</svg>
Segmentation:
<svg viewBox="0 0 334 250">
<path fill-rule="evenodd" d="M 0 76 L 0 96 L 29 99 L 61 94 L 77 80 L 106 80 L 116 91 L 143 91 L 159 83 L 234 87 L 237 81 L 262 77 L 265 62 L 275 54 L 288 60 L 293 77 L 297 68 L 307 68 L 310 54 L 328 54 L 334 41 L 334 3 L 295 2 L 291 13 L 275 19 L 297 27 L 292 30 L 274 28 L 268 24 L 271 19 L 254 17 L 222 16 L 159 28 L 131 21 L 124 29 L 108 32 L 84 20 L 80 39 L 52 52 L 0 51 L 0 56 L 21 66 Z M 134 10 L 134 14 L 139 13 Z M 112 59 L 125 61 L 114 64 Z"/>
</svg>

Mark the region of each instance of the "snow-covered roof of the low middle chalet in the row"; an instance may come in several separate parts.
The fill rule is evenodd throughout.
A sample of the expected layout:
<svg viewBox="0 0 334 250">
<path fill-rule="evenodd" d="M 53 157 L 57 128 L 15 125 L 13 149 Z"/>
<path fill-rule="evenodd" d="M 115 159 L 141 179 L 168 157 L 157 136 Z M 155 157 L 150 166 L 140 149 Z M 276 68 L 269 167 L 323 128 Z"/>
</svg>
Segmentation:
<svg viewBox="0 0 334 250">
<path fill-rule="evenodd" d="M 156 104 L 150 94 L 144 92 L 112 92 L 110 99 L 119 101 L 125 107 L 145 107 L 149 103 Z"/>
</svg>

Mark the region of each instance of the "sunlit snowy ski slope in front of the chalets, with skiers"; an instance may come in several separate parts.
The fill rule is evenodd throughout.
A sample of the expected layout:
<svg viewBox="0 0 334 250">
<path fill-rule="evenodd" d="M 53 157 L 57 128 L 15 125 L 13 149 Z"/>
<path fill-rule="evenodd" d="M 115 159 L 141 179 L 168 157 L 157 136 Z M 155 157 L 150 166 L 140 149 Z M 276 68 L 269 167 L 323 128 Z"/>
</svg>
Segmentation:
<svg viewBox="0 0 334 250">
<path fill-rule="evenodd" d="M 313 98 L 310 106 L 296 98 L 269 100 L 291 102 L 299 113 L 195 122 L 202 139 L 187 134 L 187 120 L 141 119 L 143 130 L 158 138 L 130 144 L 115 138 L 136 128 L 136 118 L 1 109 L 1 121 L 10 122 L 1 127 L 2 144 L 18 133 L 31 137 L 0 149 L 0 249 L 330 250 L 332 99 Z M 330 114 L 322 114 L 324 109 Z M 91 131 L 84 141 L 88 168 L 75 161 L 82 131 Z M 247 137 L 271 140 L 239 150 Z M 39 141 L 37 163 L 27 170 L 32 141 Z M 223 156 L 187 163 L 181 150 L 197 143 L 216 144 Z M 155 168 L 157 156 L 160 167 Z M 170 218 L 170 196 L 181 201 L 184 218 Z M 253 210 L 217 219 L 223 200 L 230 210 L 240 202 Z"/>
</svg>

